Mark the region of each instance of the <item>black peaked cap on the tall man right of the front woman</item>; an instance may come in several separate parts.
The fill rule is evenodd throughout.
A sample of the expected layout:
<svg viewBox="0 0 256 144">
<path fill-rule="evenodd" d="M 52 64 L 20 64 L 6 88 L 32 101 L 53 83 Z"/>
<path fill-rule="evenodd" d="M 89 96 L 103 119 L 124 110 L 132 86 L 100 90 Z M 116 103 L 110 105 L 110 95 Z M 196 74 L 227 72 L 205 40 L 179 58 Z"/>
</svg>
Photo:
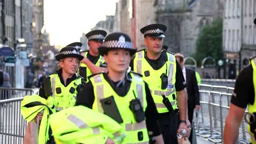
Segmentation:
<svg viewBox="0 0 256 144">
<path fill-rule="evenodd" d="M 148 25 L 140 29 L 140 32 L 146 36 L 153 36 L 153 37 L 165 37 L 164 32 L 167 29 L 165 25 L 155 23 L 152 25 Z"/>
</svg>

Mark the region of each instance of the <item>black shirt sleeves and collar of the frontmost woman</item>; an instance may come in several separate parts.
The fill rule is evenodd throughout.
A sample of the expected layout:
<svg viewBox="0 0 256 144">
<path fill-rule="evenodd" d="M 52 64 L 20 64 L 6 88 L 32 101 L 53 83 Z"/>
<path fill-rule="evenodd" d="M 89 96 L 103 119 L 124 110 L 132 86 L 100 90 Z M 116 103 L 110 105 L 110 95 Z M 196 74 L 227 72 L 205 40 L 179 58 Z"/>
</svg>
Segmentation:
<svg viewBox="0 0 256 144">
<path fill-rule="evenodd" d="M 119 82 L 113 82 L 111 81 L 106 74 L 103 74 L 104 78 L 106 81 L 111 85 L 112 89 L 120 96 L 124 97 L 127 92 L 130 89 L 131 82 L 128 81 L 127 79 L 125 80 L 124 84 L 119 85 L 118 87 L 116 86 Z M 131 75 L 129 74 L 128 77 L 131 78 Z M 155 103 L 153 101 L 153 98 L 150 94 L 150 90 L 148 88 L 147 83 L 145 82 L 145 89 L 146 89 L 146 100 L 147 100 L 147 108 L 145 111 L 145 116 L 146 116 L 146 124 L 147 124 L 147 129 L 148 131 L 152 131 L 153 135 L 156 136 L 161 134 L 158 123 L 157 123 L 157 110 Z M 88 82 L 84 85 L 82 91 L 80 94 L 77 95 L 77 100 L 76 100 L 76 106 L 82 105 L 88 108 L 92 108 L 93 102 L 95 99 L 95 95 L 93 92 L 93 85 L 91 82 Z"/>
</svg>

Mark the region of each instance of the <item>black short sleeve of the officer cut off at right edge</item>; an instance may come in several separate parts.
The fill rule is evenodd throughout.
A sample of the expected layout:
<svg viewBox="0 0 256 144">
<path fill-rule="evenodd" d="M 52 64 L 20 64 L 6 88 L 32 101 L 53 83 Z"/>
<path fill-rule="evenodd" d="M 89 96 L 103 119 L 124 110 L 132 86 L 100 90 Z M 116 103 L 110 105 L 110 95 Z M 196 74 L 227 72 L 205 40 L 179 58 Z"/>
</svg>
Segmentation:
<svg viewBox="0 0 256 144">
<path fill-rule="evenodd" d="M 237 107 L 246 108 L 249 103 L 254 102 L 252 65 L 245 67 L 236 79 L 235 90 L 231 98 L 231 103 Z"/>
</svg>

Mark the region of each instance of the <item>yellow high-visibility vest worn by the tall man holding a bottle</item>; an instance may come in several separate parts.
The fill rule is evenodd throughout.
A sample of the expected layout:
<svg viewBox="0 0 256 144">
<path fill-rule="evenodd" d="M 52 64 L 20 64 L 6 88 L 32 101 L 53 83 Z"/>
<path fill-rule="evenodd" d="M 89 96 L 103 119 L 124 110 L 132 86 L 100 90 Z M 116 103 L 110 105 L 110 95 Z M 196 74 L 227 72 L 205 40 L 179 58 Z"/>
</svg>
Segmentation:
<svg viewBox="0 0 256 144">
<path fill-rule="evenodd" d="M 162 94 L 165 94 L 166 98 L 171 102 L 172 108 L 177 109 L 177 94 L 175 90 L 176 82 L 176 59 L 173 53 L 164 51 L 167 54 L 167 61 L 162 68 L 155 70 L 153 69 L 145 58 L 146 50 L 135 53 L 133 70 L 143 75 L 144 81 L 148 83 L 151 95 L 154 99 L 158 113 L 166 113 L 169 110 L 163 103 Z M 149 75 L 145 74 L 145 71 L 149 71 Z M 162 74 L 167 75 L 168 84 L 166 89 L 161 89 L 161 76 Z"/>
</svg>

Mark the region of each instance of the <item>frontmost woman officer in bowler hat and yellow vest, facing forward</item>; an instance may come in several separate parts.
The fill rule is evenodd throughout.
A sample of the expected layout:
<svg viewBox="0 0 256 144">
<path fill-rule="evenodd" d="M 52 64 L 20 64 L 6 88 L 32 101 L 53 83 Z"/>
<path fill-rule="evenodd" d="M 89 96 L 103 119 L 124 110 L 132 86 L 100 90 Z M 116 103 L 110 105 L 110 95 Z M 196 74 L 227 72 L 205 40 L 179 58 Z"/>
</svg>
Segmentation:
<svg viewBox="0 0 256 144">
<path fill-rule="evenodd" d="M 148 133 L 157 143 L 163 143 L 150 90 L 141 75 L 129 69 L 131 57 L 137 51 L 132 48 L 131 38 L 124 33 L 112 33 L 105 40 L 99 53 L 108 65 L 108 73 L 90 76 L 76 105 L 105 113 L 120 123 L 126 134 L 123 143 L 147 143 Z"/>
</svg>

